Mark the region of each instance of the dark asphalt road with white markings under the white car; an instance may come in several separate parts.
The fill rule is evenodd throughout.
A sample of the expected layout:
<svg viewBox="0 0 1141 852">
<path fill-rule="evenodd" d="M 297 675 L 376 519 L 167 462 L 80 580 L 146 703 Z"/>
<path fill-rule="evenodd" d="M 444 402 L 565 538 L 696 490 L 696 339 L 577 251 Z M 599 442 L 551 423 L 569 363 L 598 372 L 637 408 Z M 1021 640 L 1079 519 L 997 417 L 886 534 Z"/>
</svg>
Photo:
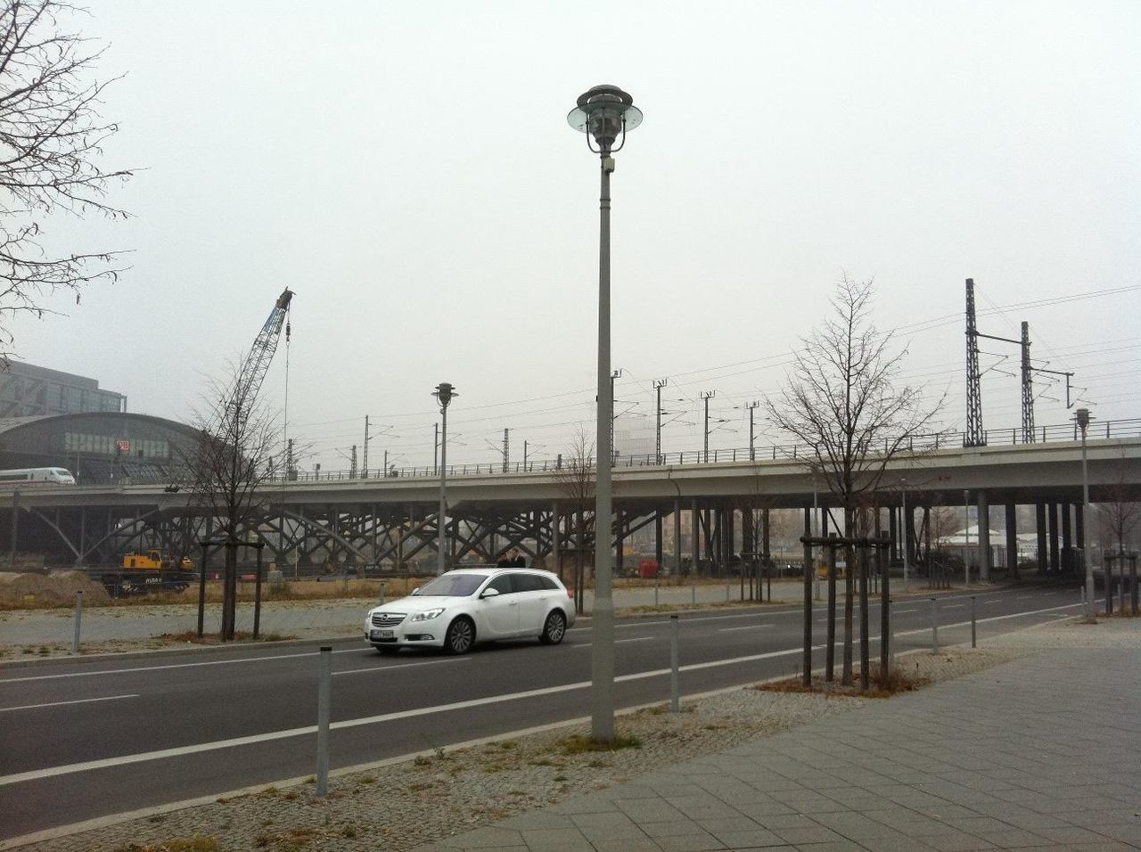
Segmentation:
<svg viewBox="0 0 1141 852">
<path fill-rule="evenodd" d="M 1079 611 L 1078 591 L 1058 587 L 980 592 L 974 606 L 980 639 Z M 939 597 L 940 643 L 970 640 L 970 607 L 965 593 Z M 893 610 L 897 650 L 930 648 L 929 601 Z M 681 616 L 682 693 L 799 671 L 802 612 Z M 825 616 L 818 606 L 815 666 Z M 857 608 L 857 638 L 858 618 Z M 879 604 L 868 622 L 875 640 Z M 617 623 L 618 707 L 669 700 L 670 630 L 663 616 Z M 313 774 L 319 644 L 0 668 L 0 838 Z M 464 657 L 330 644 L 332 769 L 590 714 L 589 620 L 556 647 L 503 642 Z"/>
</svg>

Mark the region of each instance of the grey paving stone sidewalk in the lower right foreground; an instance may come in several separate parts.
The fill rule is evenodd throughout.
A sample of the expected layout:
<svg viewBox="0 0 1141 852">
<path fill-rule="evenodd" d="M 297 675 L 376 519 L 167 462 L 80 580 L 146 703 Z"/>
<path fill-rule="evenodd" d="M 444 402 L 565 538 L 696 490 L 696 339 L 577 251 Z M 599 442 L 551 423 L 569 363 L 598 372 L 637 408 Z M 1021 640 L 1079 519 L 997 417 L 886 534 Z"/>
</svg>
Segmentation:
<svg viewBox="0 0 1141 852">
<path fill-rule="evenodd" d="M 1141 655 L 1054 648 L 415 852 L 762 849 L 1141 849 Z"/>
</svg>

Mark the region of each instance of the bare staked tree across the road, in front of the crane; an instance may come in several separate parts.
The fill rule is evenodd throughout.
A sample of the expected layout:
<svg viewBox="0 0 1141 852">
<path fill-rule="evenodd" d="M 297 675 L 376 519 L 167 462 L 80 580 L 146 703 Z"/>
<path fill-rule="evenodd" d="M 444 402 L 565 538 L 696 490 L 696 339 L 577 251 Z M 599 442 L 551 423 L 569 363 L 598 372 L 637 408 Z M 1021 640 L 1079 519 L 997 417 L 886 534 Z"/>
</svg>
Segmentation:
<svg viewBox="0 0 1141 852">
<path fill-rule="evenodd" d="M 284 462 L 276 455 L 282 449 L 280 421 L 256 398 L 235 396 L 240 371 L 240 366 L 234 368 L 228 383 L 211 383 L 192 420 L 199 438 L 184 460 L 194 510 L 220 526 L 217 539 L 225 551 L 225 641 L 234 638 L 238 547 L 251 532 L 257 533 L 257 522 L 265 514 L 270 489 L 264 486 L 276 473 L 284 473 Z"/>
</svg>

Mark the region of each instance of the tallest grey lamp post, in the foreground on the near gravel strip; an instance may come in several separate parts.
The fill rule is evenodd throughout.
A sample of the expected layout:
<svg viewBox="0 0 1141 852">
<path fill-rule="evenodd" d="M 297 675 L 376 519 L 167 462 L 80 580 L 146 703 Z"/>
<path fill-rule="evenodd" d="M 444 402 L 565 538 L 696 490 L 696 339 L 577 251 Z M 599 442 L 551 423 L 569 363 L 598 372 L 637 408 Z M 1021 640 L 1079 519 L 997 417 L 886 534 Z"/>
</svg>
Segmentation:
<svg viewBox="0 0 1141 852">
<path fill-rule="evenodd" d="M 594 488 L 594 606 L 591 612 L 591 737 L 596 743 L 614 741 L 614 599 L 610 576 L 610 173 L 613 154 L 626 141 L 626 131 L 641 124 L 641 111 L 633 98 L 616 86 L 596 86 L 578 96 L 567 123 L 586 133 L 586 147 L 599 155 L 598 252 L 598 422 Z M 621 137 L 617 147 L 615 141 Z M 594 139 L 597 148 L 591 146 Z"/>
</svg>

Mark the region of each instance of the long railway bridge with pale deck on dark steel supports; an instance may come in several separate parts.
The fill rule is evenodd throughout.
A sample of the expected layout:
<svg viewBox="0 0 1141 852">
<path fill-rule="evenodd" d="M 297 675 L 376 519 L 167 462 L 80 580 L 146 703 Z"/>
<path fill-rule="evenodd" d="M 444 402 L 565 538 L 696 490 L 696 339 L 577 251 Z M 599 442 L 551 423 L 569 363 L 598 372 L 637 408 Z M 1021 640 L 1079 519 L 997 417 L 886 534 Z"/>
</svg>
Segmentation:
<svg viewBox="0 0 1141 852">
<path fill-rule="evenodd" d="M 989 567 L 992 545 L 1018 553 L 1017 508 L 1033 505 L 1039 570 L 1067 570 L 1073 550 L 1085 546 L 1086 538 L 1081 443 L 1071 425 L 1044 428 L 1035 437 L 1023 443 L 1020 430 L 992 431 L 987 446 L 973 447 L 946 435 L 916 439 L 892 460 L 877 493 L 881 528 L 898 542 L 892 555 L 901 557 L 906 546 L 913 560 L 922 561 L 924 538 L 930 549 L 932 508 L 963 506 L 969 500 L 980 518 L 989 518 L 990 508 L 1005 510 L 1005 542 L 989 542 L 988 525 L 979 525 L 980 567 Z M 769 557 L 770 510 L 802 510 L 807 529 L 816 506 L 816 528 L 826 529 L 826 511 L 835 501 L 814 481 L 808 455 L 807 447 L 767 447 L 620 457 L 610 525 L 618 570 L 624 541 L 650 525 L 659 562 L 677 570 L 683 558 L 717 570 L 741 553 Z M 1092 502 L 1141 500 L 1141 420 L 1095 424 L 1087 457 Z M 532 559 L 560 566 L 576 549 L 592 551 L 593 496 L 576 498 L 582 486 L 568 484 L 567 466 L 450 465 L 450 563 L 486 562 L 518 546 Z M 286 573 L 311 574 L 330 565 L 397 571 L 436 558 L 436 470 L 277 480 L 267 482 L 259 497 L 245 538 L 261 542 L 266 561 Z M 0 553 L 39 553 L 48 565 L 114 563 L 124 552 L 147 547 L 196 558 L 196 543 L 216 528 L 217 519 L 196 508 L 192 494 L 170 484 L 0 490 Z M 671 538 L 682 546 L 665 549 L 663 542 Z M 665 550 L 671 557 L 663 561 Z"/>
</svg>

